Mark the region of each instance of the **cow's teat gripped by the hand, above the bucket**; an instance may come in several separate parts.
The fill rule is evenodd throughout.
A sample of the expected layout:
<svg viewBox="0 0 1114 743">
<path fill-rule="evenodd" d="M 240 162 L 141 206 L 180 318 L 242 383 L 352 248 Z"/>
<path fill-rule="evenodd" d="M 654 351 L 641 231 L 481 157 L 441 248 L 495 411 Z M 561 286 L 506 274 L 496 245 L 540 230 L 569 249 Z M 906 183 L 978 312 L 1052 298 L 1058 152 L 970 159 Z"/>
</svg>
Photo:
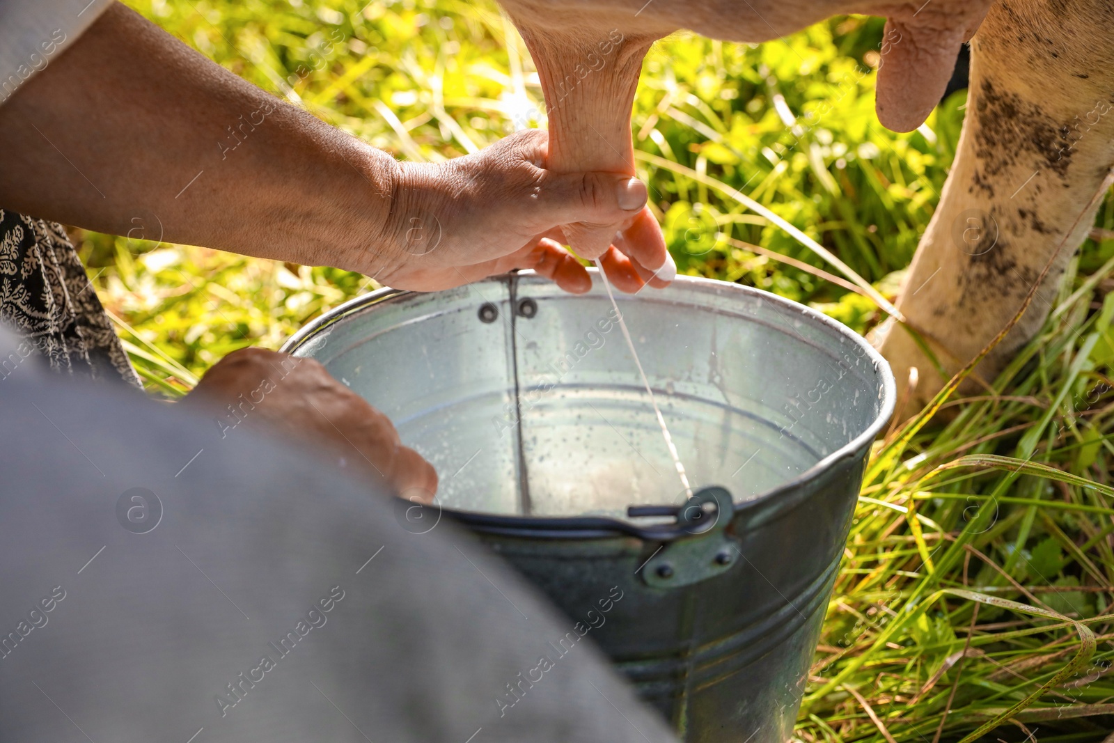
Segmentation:
<svg viewBox="0 0 1114 743">
<path fill-rule="evenodd" d="M 518 22 L 541 79 L 549 118 L 547 167 L 558 173 L 606 170 L 634 176 L 631 107 L 642 60 L 657 39 L 619 29 L 550 31 Z M 617 225 L 568 225 L 574 251 L 595 257 Z"/>
</svg>

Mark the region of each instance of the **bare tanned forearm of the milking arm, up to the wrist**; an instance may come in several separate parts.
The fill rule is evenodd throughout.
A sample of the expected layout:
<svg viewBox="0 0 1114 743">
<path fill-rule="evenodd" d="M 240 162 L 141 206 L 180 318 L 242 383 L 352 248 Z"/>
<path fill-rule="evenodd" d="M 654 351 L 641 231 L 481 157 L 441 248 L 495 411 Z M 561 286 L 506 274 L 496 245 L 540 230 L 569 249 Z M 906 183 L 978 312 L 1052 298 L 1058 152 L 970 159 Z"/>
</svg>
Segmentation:
<svg viewBox="0 0 1114 743">
<path fill-rule="evenodd" d="M 0 106 L 0 143 L 3 208 L 369 274 L 392 261 L 393 158 L 123 6 Z"/>
</svg>

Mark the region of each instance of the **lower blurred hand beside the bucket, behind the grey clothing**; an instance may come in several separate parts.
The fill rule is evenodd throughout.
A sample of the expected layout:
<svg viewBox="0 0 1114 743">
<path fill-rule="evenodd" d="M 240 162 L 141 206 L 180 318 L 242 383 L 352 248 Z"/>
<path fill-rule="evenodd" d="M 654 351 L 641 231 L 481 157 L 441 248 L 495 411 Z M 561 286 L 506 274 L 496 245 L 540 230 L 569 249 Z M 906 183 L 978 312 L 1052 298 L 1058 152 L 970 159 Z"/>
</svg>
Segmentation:
<svg viewBox="0 0 1114 743">
<path fill-rule="evenodd" d="M 325 448 L 342 467 L 407 499 L 429 502 L 437 472 L 383 413 L 312 359 L 241 349 L 217 362 L 180 404 L 215 414 L 222 431 L 245 427 Z"/>
</svg>

